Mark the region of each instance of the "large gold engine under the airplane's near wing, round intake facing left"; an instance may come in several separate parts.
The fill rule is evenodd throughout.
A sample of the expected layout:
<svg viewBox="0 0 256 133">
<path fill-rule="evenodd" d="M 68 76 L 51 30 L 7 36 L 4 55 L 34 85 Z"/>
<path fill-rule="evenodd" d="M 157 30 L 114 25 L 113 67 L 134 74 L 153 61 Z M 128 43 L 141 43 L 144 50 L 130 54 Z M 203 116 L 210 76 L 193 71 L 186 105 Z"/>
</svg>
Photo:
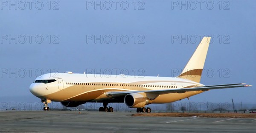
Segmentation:
<svg viewBox="0 0 256 133">
<path fill-rule="evenodd" d="M 139 93 L 127 94 L 124 99 L 125 105 L 129 108 L 142 108 L 151 104 L 151 100 Z"/>
</svg>

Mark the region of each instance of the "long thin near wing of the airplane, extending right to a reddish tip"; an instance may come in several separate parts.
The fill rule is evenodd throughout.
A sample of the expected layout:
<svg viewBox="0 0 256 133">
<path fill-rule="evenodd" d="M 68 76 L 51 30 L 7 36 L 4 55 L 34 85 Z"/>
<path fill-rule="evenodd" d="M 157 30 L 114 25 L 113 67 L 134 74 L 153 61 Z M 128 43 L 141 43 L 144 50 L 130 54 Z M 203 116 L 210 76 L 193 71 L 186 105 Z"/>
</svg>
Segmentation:
<svg viewBox="0 0 256 133">
<path fill-rule="evenodd" d="M 236 87 L 247 87 L 252 85 L 245 85 L 245 83 L 235 84 L 223 84 L 223 85 L 211 85 L 211 86 L 199 86 L 193 88 L 180 88 L 180 89 L 161 89 L 161 90 L 145 90 L 145 91 L 110 91 L 106 92 L 107 96 L 121 96 L 130 93 L 152 93 L 152 94 L 167 94 L 167 93 L 185 93 L 187 91 L 209 91 L 211 89 L 225 89 L 225 88 L 236 88 Z"/>
</svg>

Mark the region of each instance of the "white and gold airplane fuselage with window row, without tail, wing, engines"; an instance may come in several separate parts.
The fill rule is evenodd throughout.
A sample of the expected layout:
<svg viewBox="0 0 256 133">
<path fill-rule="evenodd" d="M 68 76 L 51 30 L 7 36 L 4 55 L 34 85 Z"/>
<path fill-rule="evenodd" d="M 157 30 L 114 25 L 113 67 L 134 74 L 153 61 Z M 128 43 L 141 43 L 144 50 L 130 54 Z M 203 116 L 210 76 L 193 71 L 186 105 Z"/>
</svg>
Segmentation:
<svg viewBox="0 0 256 133">
<path fill-rule="evenodd" d="M 110 91 L 143 91 L 204 86 L 191 80 L 170 77 L 138 77 L 127 75 L 48 73 L 36 78 L 56 80 L 51 83 L 32 83 L 30 91 L 36 97 L 56 102 L 124 102 L 123 99 L 111 99 L 106 95 Z M 160 94 L 152 103 L 170 103 L 199 94 L 203 91 Z"/>
</svg>

